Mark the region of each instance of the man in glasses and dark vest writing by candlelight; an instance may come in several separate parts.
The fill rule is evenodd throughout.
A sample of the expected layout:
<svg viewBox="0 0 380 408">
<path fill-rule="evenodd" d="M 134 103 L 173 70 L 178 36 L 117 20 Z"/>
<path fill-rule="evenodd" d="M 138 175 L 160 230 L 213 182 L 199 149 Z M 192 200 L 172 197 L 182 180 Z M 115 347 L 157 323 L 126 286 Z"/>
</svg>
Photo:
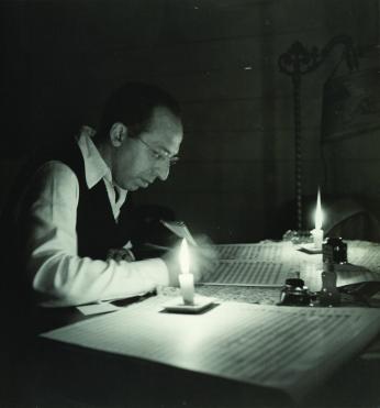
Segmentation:
<svg viewBox="0 0 380 408">
<path fill-rule="evenodd" d="M 177 249 L 143 261 L 119 255 L 138 229 L 131 191 L 167 179 L 182 133 L 168 93 L 130 82 L 110 98 L 98 133 L 85 126 L 74 143 L 35 156 L 16 195 L 13 241 L 37 304 L 74 306 L 178 286 Z M 191 255 L 199 279 L 213 253 L 192 247 Z"/>
</svg>

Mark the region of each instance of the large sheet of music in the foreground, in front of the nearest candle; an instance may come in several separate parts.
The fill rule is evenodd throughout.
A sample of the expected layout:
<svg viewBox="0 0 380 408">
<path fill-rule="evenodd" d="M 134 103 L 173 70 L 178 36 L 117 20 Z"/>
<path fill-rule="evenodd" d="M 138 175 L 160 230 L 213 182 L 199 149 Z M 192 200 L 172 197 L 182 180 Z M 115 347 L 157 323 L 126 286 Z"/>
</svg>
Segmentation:
<svg viewBox="0 0 380 408">
<path fill-rule="evenodd" d="M 204 315 L 159 311 L 157 299 L 146 300 L 42 335 L 280 388 L 298 400 L 380 330 L 378 309 L 225 302 Z"/>
</svg>

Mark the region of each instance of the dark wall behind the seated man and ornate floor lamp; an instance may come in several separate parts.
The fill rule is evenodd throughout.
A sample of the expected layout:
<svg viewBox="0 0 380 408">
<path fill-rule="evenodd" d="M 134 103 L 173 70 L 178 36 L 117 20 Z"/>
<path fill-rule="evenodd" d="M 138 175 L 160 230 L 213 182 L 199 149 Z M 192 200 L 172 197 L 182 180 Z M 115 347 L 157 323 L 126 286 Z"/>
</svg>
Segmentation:
<svg viewBox="0 0 380 408">
<path fill-rule="evenodd" d="M 113 88 L 144 80 L 179 99 L 186 139 L 169 180 L 138 200 L 174 208 L 215 242 L 279 238 L 295 227 L 292 82 L 279 56 L 297 40 L 322 48 L 347 34 L 357 75 L 372 75 L 360 92 L 378 86 L 379 0 L 0 0 L 0 14 L 1 206 L 31 148 L 96 126 Z M 321 125 L 340 55 L 302 78 L 303 192 L 320 185 L 323 197 L 366 197 L 377 211 L 379 100 L 351 132 L 329 137 Z"/>
</svg>

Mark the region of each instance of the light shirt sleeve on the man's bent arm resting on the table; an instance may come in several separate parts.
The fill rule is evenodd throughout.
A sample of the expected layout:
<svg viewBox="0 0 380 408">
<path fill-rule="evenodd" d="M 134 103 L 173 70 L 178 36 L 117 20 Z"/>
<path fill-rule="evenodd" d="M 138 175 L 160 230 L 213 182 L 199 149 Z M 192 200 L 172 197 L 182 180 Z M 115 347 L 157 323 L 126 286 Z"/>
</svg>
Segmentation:
<svg viewBox="0 0 380 408">
<path fill-rule="evenodd" d="M 168 285 L 168 271 L 160 258 L 130 263 L 78 256 L 79 184 L 67 165 L 46 163 L 30 190 L 34 199 L 23 207 L 25 266 L 31 286 L 41 295 L 41 306 L 116 299 Z"/>
</svg>

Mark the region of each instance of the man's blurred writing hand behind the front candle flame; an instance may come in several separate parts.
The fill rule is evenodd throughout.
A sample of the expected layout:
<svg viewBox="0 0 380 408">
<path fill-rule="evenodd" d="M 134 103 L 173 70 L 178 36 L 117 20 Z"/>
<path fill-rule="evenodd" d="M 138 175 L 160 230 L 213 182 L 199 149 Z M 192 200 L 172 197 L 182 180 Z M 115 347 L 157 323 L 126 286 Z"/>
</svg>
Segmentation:
<svg viewBox="0 0 380 408">
<path fill-rule="evenodd" d="M 217 263 L 216 252 L 211 241 L 204 236 L 197 238 L 197 246 L 189 245 L 190 272 L 194 275 L 194 282 L 201 280 L 208 273 L 215 268 Z M 163 260 L 169 271 L 169 286 L 179 286 L 178 275 L 181 273 L 179 264 L 178 244 L 163 255 Z"/>
</svg>

